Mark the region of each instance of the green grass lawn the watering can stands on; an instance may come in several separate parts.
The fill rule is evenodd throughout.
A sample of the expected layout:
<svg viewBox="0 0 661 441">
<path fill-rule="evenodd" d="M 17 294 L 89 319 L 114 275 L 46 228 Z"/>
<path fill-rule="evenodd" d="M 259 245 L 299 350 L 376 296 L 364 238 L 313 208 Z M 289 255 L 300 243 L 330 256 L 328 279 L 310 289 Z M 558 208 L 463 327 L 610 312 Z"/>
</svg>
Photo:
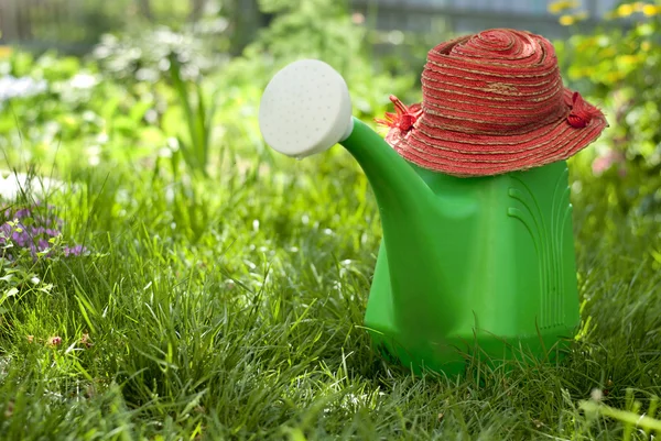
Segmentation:
<svg viewBox="0 0 661 441">
<path fill-rule="evenodd" d="M 613 411 L 661 395 L 658 222 L 584 183 L 589 323 L 570 356 L 414 376 L 361 328 L 380 225 L 357 166 L 338 147 L 260 165 L 189 183 L 97 168 L 50 197 L 93 253 L 15 267 L 41 282 L 0 317 L 2 439 L 648 439 Z"/>
</svg>

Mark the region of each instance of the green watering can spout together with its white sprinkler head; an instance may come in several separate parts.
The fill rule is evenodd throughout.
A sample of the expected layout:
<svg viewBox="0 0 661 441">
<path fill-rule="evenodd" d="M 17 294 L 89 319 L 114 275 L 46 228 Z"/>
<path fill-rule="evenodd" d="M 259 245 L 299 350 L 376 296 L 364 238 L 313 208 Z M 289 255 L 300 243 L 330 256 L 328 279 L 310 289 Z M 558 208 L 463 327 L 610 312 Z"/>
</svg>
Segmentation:
<svg viewBox="0 0 661 441">
<path fill-rule="evenodd" d="M 267 143 L 288 156 L 303 158 L 335 144 L 354 156 L 373 190 L 383 229 L 369 300 L 377 307 L 368 306 L 367 326 L 386 305 L 389 312 L 376 312 L 383 319 L 376 320 L 377 328 L 394 327 L 409 334 L 404 340 L 424 344 L 442 340 L 456 318 L 444 267 L 456 256 L 438 240 L 453 231 L 445 224 L 453 211 L 430 188 L 425 170 L 351 115 L 346 82 L 323 62 L 295 62 L 280 70 L 264 90 L 259 120 Z"/>
</svg>

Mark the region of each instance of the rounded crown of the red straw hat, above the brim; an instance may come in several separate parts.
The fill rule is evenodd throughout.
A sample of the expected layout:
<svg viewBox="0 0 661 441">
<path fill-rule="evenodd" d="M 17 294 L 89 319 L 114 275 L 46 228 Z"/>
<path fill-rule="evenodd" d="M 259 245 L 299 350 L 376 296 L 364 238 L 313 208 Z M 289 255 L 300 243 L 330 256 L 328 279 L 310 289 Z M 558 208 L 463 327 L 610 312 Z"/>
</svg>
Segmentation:
<svg viewBox="0 0 661 441">
<path fill-rule="evenodd" d="M 566 117 L 553 45 L 516 30 L 488 30 L 442 43 L 422 74 L 431 128 L 475 134 L 527 133 Z"/>
</svg>

